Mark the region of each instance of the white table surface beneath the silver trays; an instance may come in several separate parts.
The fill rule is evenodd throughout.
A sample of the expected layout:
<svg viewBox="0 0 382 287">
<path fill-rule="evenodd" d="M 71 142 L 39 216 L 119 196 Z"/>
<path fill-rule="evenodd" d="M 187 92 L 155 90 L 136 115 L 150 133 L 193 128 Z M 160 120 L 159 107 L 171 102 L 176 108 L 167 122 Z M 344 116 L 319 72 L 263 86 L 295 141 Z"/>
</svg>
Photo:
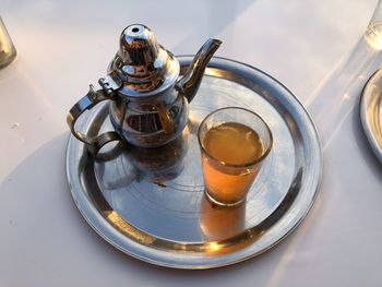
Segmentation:
<svg viewBox="0 0 382 287">
<path fill-rule="evenodd" d="M 382 166 L 358 100 L 382 59 L 362 41 L 375 0 L 7 1 L 19 59 L 0 71 L 0 286 L 381 286 Z M 176 55 L 220 38 L 311 112 L 321 191 L 286 240 L 244 263 L 177 271 L 119 252 L 85 223 L 65 179 L 69 108 L 105 74 L 118 36 L 152 27 Z"/>
</svg>

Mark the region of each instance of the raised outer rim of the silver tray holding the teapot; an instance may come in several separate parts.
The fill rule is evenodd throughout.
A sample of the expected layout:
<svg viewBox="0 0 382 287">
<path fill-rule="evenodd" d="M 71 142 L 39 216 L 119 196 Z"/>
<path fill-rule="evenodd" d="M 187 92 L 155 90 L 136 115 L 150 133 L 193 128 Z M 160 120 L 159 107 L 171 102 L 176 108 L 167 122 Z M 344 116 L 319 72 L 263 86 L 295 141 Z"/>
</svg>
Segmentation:
<svg viewBox="0 0 382 287">
<path fill-rule="evenodd" d="M 188 64 L 191 59 L 192 59 L 193 56 L 178 56 L 178 59 L 179 59 L 179 62 L 181 65 L 186 65 Z M 223 63 L 222 63 L 223 62 Z M 242 254 L 242 256 L 234 256 L 231 258 L 230 260 L 226 260 L 226 262 L 215 262 L 215 264 L 208 264 L 208 265 L 192 265 L 192 264 L 188 264 L 187 262 L 184 262 L 183 264 L 179 264 L 179 262 L 164 262 L 164 261 L 158 261 L 158 260 L 155 260 L 155 259 L 151 259 L 150 256 L 144 256 L 145 253 L 147 253 L 145 249 L 153 249 L 153 247 L 147 247 L 147 246 L 142 246 L 141 243 L 139 242 L 135 242 L 133 240 L 129 240 L 134 248 L 139 249 L 142 251 L 141 254 L 136 254 L 136 252 L 132 252 L 131 250 L 127 250 L 126 247 L 121 247 L 120 246 L 120 242 L 116 242 L 116 241 L 119 241 L 121 238 L 117 238 L 118 240 L 111 240 L 110 238 L 108 238 L 102 230 L 99 230 L 99 226 L 97 228 L 97 226 L 94 225 L 94 222 L 93 220 L 98 220 L 98 218 L 94 218 L 94 217 L 102 217 L 102 215 L 99 214 L 99 211 L 95 208 L 94 205 L 92 204 L 87 204 L 85 206 L 81 206 L 80 202 L 79 202 L 79 199 L 74 192 L 74 189 L 73 189 L 73 186 L 71 183 L 71 180 L 70 180 L 70 167 L 69 167 L 69 153 L 70 153 L 70 147 L 71 147 L 71 142 L 72 141 L 75 141 L 74 136 L 71 134 L 69 136 L 69 140 L 68 140 L 68 146 L 67 146 L 67 178 L 68 178 L 68 183 L 69 183 L 69 187 L 70 187 L 70 191 L 71 191 L 71 194 L 72 194 L 72 199 L 77 207 L 77 210 L 80 211 L 80 213 L 82 214 L 82 216 L 85 218 L 85 220 L 87 222 L 87 224 L 103 238 L 105 239 L 108 243 L 110 243 L 111 246 L 114 246 L 115 248 L 117 248 L 118 250 L 122 251 L 123 253 L 126 254 L 129 254 L 135 259 L 139 259 L 141 261 L 144 261 L 144 262 L 147 262 L 147 263 L 151 263 L 151 264 L 155 264 L 155 265 L 160 265 L 160 266 L 165 266 L 165 267 L 171 267 L 171 268 L 183 268 L 183 270 L 206 270 L 206 268 L 215 268 L 215 267 L 222 267 L 222 266 L 226 266 L 226 265 L 231 265 L 231 264 L 236 264 L 236 263 L 239 263 L 239 262 L 242 262 L 242 261 L 246 261 L 250 258 L 254 258 L 265 251 L 267 251 L 268 249 L 277 246 L 280 241 L 283 241 L 285 238 L 287 238 L 298 226 L 299 224 L 306 218 L 307 214 L 309 213 L 309 211 L 311 210 L 311 206 L 313 205 L 314 201 L 315 201 L 315 198 L 319 193 L 319 190 L 320 190 L 320 187 L 321 187 L 321 181 L 322 181 L 322 169 L 323 169 L 323 155 L 322 155 L 322 146 L 321 146 L 321 141 L 320 141 L 320 136 L 319 136 L 319 133 L 317 131 L 317 128 L 315 128 L 315 124 L 313 122 L 313 120 L 311 119 L 309 112 L 307 111 L 307 109 L 305 108 L 305 106 L 301 104 L 301 101 L 296 97 L 296 95 L 288 88 L 286 87 L 283 83 L 280 83 L 277 79 L 273 77 L 272 75 L 265 73 L 264 71 L 255 68 L 255 67 L 252 67 L 250 64 L 247 64 L 247 63 L 242 63 L 240 61 L 236 61 L 236 60 L 231 60 L 231 59 L 227 59 L 227 58 L 223 58 L 223 57 L 213 57 L 212 60 L 210 61 L 208 63 L 208 68 L 214 68 L 215 65 L 217 68 L 222 68 L 222 65 L 224 65 L 224 63 L 228 64 L 229 63 L 235 63 L 235 64 L 238 64 L 238 65 L 242 65 L 242 67 L 246 67 L 246 68 L 249 68 L 250 70 L 254 70 L 256 71 L 258 73 L 262 74 L 264 76 L 264 79 L 268 80 L 268 81 L 272 81 L 273 84 L 277 84 L 282 89 L 284 89 L 287 94 L 289 94 L 291 96 L 291 101 L 294 101 L 294 104 L 297 104 L 298 108 L 300 109 L 300 112 L 302 112 L 302 115 L 306 117 L 306 119 L 308 120 L 309 122 L 309 128 L 310 130 L 312 131 L 312 133 L 310 133 L 309 137 L 315 142 L 315 148 L 317 148 L 317 152 L 319 153 L 318 154 L 318 175 L 315 176 L 315 189 L 314 191 L 312 191 L 312 199 L 311 201 L 309 202 L 309 204 L 306 206 L 303 213 L 299 216 L 299 218 L 297 219 L 297 222 L 289 227 L 289 229 L 284 232 L 280 237 L 278 237 L 277 240 L 273 241 L 271 244 L 267 244 L 265 248 L 261 249 L 260 251 L 256 251 L 256 252 L 252 252 L 252 253 L 244 253 Z M 232 72 L 232 71 L 230 71 Z M 210 76 L 213 76 L 213 75 L 210 75 Z M 223 80 L 228 80 L 226 77 L 223 77 L 223 76 L 218 76 L 219 79 L 223 79 Z M 262 80 L 264 80 L 262 79 Z M 246 85 L 244 85 L 246 86 Z M 248 86 L 247 86 L 248 87 Z M 254 92 L 254 91 L 253 91 Z M 313 139 L 312 139 L 313 137 Z M 83 193 L 83 192 L 82 192 Z M 86 210 L 86 211 L 85 211 Z M 98 215 L 98 216 L 96 216 Z M 103 217 L 102 217 L 103 218 Z M 280 217 L 283 218 L 283 217 Z M 278 219 L 279 220 L 279 219 Z M 277 220 L 277 222 L 278 222 Z M 109 230 L 111 232 L 115 232 L 116 229 L 105 219 L 103 218 L 103 228 L 106 230 Z M 123 237 L 123 235 L 119 234 L 119 237 Z M 126 239 L 126 238 L 124 238 Z M 243 249 L 248 249 L 250 248 L 250 246 L 243 248 Z M 155 249 L 155 248 L 154 248 Z M 156 252 L 158 252 L 158 250 L 155 250 Z M 164 251 L 164 250 L 159 250 L 159 252 L 164 252 L 164 254 L 166 255 L 166 253 L 168 253 L 168 251 Z M 242 253 L 242 250 L 238 250 L 238 251 L 235 251 L 232 254 L 224 254 L 225 256 L 228 256 L 230 258 L 231 255 L 235 255 L 237 253 Z M 148 252 L 150 253 L 150 252 Z M 223 255 L 219 255 L 219 256 L 223 256 Z M 187 260 L 184 260 L 187 261 Z"/>
</svg>

